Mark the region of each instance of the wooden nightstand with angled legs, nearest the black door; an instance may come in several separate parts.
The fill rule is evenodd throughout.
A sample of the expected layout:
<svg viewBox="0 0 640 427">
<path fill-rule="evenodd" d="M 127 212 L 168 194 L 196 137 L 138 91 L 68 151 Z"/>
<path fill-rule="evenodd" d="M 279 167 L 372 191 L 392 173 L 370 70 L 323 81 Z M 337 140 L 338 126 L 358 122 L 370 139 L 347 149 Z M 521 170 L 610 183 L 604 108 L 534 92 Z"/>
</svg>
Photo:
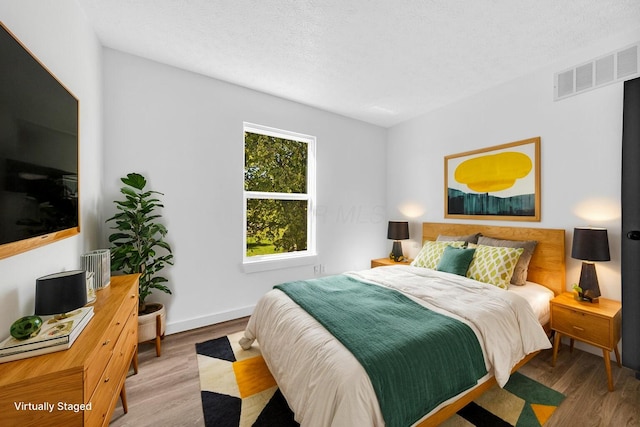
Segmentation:
<svg viewBox="0 0 640 427">
<path fill-rule="evenodd" d="M 618 366 L 622 366 L 618 352 L 621 309 L 620 302 L 606 298 L 599 298 L 598 303 L 576 301 L 571 292 L 565 292 L 551 300 L 551 329 L 555 331 L 551 365 L 556 364 L 562 335 L 571 338 L 571 350 L 574 339 L 599 347 L 602 349 L 609 391 L 613 391 L 610 360 L 612 350 L 616 354 Z"/>
</svg>

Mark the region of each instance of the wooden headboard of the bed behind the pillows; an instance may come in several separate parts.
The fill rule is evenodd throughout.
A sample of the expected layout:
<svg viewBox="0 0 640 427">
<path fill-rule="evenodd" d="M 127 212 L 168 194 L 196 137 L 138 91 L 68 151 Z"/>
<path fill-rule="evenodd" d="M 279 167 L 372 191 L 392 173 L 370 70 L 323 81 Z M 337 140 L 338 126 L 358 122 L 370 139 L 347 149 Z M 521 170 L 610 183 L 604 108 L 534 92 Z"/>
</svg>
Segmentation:
<svg viewBox="0 0 640 427">
<path fill-rule="evenodd" d="M 527 280 L 539 283 L 558 295 L 566 290 L 563 229 L 504 227 L 481 224 L 422 223 L 422 241 L 436 240 L 438 235 L 463 236 L 482 233 L 483 236 L 506 240 L 536 240 L 538 244 L 529 263 Z"/>
</svg>

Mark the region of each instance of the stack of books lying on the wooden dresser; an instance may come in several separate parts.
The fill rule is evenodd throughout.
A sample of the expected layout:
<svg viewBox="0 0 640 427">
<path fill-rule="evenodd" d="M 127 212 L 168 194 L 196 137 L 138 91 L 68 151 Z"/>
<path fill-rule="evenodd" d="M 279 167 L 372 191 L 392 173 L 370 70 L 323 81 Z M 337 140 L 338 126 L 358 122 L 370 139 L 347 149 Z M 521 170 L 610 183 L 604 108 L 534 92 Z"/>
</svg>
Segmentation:
<svg viewBox="0 0 640 427">
<path fill-rule="evenodd" d="M 26 340 L 9 337 L 0 343 L 0 363 L 66 350 L 73 345 L 93 317 L 93 306 L 63 316 L 47 316 L 36 336 Z"/>
</svg>

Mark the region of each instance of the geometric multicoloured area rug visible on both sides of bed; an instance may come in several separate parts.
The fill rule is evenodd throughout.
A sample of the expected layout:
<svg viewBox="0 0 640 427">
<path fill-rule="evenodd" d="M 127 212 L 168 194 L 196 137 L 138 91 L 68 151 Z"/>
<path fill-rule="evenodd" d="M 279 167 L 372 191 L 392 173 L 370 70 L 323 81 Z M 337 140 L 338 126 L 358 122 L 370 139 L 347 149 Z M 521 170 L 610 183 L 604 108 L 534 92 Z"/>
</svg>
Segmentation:
<svg viewBox="0 0 640 427">
<path fill-rule="evenodd" d="M 197 343 L 202 410 L 207 427 L 298 426 L 256 342 L 242 350 L 242 332 Z M 441 424 L 538 427 L 564 395 L 518 372 L 503 389 L 494 386 Z"/>
</svg>

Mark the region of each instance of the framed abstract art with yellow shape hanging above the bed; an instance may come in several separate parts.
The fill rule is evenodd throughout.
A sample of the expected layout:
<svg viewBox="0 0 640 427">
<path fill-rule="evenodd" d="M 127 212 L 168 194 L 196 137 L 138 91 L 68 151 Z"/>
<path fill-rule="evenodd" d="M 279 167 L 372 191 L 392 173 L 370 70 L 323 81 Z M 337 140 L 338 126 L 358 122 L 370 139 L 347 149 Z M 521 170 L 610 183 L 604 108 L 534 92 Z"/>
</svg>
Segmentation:
<svg viewBox="0 0 640 427">
<path fill-rule="evenodd" d="M 444 217 L 540 221 L 540 137 L 446 156 Z"/>
</svg>

